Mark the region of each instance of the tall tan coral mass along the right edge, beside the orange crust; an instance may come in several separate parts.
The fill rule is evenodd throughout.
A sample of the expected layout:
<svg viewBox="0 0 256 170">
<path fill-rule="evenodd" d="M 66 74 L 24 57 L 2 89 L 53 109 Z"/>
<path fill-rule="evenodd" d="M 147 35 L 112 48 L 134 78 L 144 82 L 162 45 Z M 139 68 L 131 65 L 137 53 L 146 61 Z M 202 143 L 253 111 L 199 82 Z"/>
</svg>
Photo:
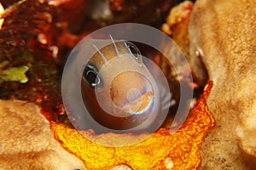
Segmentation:
<svg viewBox="0 0 256 170">
<path fill-rule="evenodd" d="M 206 72 L 200 65 L 205 65 L 215 84 L 207 105 L 217 123 L 201 149 L 201 169 L 255 167 L 255 12 L 253 0 L 195 3 L 189 61 L 201 82 Z"/>
</svg>

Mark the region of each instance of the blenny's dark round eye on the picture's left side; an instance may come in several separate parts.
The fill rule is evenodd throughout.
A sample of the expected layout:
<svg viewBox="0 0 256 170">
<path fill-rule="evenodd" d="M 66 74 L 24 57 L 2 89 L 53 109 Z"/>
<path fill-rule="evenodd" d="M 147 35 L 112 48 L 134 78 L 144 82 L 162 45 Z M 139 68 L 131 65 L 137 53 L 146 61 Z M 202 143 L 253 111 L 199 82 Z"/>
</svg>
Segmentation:
<svg viewBox="0 0 256 170">
<path fill-rule="evenodd" d="M 98 77 L 98 71 L 94 65 L 86 65 L 83 72 L 83 80 L 90 88 L 96 88 L 97 85 L 101 85 L 101 78 Z"/>
</svg>

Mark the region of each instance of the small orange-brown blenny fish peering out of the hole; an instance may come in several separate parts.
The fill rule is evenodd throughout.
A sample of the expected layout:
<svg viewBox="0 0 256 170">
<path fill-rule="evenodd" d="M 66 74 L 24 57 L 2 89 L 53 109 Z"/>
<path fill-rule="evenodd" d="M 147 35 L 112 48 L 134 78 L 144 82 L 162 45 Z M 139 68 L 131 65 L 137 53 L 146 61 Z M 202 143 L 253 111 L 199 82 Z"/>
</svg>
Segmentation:
<svg viewBox="0 0 256 170">
<path fill-rule="evenodd" d="M 112 39 L 111 44 L 96 51 L 85 65 L 81 81 L 90 116 L 116 130 L 160 127 L 166 118 L 161 113 L 170 106 L 168 85 L 157 84 L 137 46 Z"/>
</svg>

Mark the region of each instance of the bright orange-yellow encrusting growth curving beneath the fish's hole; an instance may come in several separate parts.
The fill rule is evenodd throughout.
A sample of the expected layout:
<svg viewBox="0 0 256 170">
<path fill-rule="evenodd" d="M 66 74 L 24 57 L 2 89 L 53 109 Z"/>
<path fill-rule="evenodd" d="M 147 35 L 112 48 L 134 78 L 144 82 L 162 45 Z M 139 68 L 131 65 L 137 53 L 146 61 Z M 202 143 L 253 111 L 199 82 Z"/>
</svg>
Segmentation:
<svg viewBox="0 0 256 170">
<path fill-rule="evenodd" d="M 133 169 L 196 169 L 200 166 L 199 149 L 207 132 L 214 126 L 214 119 L 207 108 L 207 97 L 212 82 L 190 112 L 187 122 L 176 133 L 160 128 L 141 143 L 124 147 L 107 147 L 85 139 L 75 129 L 51 122 L 51 127 L 61 145 L 78 156 L 89 169 L 102 169 L 126 164 Z M 98 135 L 97 139 L 108 140 L 113 133 Z M 127 139 L 136 139 L 127 134 Z"/>
</svg>

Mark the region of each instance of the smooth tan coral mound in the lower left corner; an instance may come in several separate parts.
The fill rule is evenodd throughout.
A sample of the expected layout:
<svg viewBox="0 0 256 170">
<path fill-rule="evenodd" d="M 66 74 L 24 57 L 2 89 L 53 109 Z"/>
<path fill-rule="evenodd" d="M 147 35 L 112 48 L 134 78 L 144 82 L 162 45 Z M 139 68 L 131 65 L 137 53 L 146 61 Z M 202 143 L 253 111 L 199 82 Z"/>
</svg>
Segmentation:
<svg viewBox="0 0 256 170">
<path fill-rule="evenodd" d="M 0 100 L 0 169 L 85 169 L 61 148 L 37 105 Z"/>
</svg>

